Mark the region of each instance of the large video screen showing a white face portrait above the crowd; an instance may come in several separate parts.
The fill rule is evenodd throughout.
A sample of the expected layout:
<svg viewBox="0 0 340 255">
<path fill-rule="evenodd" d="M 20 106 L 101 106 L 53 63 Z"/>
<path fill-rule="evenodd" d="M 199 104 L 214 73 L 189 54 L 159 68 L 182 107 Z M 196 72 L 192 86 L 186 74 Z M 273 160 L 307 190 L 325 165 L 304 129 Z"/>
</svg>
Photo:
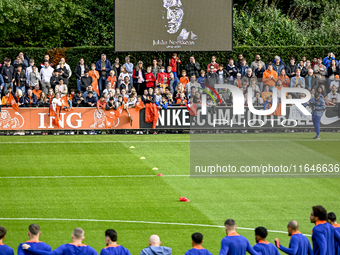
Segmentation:
<svg viewBox="0 0 340 255">
<path fill-rule="evenodd" d="M 115 51 L 232 51 L 232 0 L 115 0 Z"/>
</svg>

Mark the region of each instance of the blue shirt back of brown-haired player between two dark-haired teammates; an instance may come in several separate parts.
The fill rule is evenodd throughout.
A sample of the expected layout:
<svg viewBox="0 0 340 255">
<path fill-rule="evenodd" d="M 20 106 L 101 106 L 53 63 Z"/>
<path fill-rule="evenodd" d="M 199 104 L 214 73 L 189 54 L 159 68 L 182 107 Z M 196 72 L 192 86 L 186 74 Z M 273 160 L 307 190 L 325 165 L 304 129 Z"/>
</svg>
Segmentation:
<svg viewBox="0 0 340 255">
<path fill-rule="evenodd" d="M 238 234 L 229 235 L 222 239 L 219 255 L 245 255 L 247 251 L 250 254 L 257 254 L 247 238 Z"/>
</svg>

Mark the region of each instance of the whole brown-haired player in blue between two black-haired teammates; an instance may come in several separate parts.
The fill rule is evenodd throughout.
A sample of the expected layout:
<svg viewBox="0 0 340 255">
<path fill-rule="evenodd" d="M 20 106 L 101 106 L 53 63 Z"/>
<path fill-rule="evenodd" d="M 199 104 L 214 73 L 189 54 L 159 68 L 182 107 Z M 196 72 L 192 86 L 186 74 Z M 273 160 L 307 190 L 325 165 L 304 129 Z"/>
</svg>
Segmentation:
<svg viewBox="0 0 340 255">
<path fill-rule="evenodd" d="M 246 252 L 252 255 L 260 255 L 250 245 L 247 238 L 236 232 L 236 222 L 228 219 L 224 222 L 227 236 L 222 239 L 219 255 L 245 255 Z"/>
</svg>

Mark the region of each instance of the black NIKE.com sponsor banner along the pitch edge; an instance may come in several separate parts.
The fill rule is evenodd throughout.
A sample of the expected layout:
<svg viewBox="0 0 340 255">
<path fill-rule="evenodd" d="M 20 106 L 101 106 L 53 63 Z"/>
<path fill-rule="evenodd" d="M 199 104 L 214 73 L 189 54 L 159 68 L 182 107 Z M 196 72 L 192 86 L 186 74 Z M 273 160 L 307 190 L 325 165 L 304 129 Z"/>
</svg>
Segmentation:
<svg viewBox="0 0 340 255">
<path fill-rule="evenodd" d="M 263 109 L 255 107 L 255 109 Z M 310 112 L 310 109 L 307 108 Z M 145 123 L 144 109 L 140 115 L 140 128 L 151 129 Z M 197 116 L 190 116 L 186 107 L 169 107 L 159 111 L 156 129 L 259 129 L 259 128 L 313 128 L 312 116 L 305 116 L 296 106 L 287 107 L 287 115 L 255 115 L 245 107 L 244 114 L 233 115 L 232 107 L 207 107 L 206 115 L 197 109 Z M 327 107 L 321 117 L 321 128 L 340 128 L 336 107 Z"/>
</svg>

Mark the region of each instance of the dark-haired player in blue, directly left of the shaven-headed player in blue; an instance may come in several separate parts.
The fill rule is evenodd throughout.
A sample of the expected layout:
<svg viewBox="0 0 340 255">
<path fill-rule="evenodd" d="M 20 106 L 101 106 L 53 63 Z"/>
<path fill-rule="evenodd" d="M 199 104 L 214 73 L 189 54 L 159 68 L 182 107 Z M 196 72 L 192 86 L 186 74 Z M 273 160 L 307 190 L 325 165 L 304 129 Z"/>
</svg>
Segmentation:
<svg viewBox="0 0 340 255">
<path fill-rule="evenodd" d="M 262 255 L 280 255 L 278 249 L 274 244 L 268 242 L 266 237 L 268 231 L 264 227 L 255 228 L 255 241 L 254 250 Z"/>
</svg>

